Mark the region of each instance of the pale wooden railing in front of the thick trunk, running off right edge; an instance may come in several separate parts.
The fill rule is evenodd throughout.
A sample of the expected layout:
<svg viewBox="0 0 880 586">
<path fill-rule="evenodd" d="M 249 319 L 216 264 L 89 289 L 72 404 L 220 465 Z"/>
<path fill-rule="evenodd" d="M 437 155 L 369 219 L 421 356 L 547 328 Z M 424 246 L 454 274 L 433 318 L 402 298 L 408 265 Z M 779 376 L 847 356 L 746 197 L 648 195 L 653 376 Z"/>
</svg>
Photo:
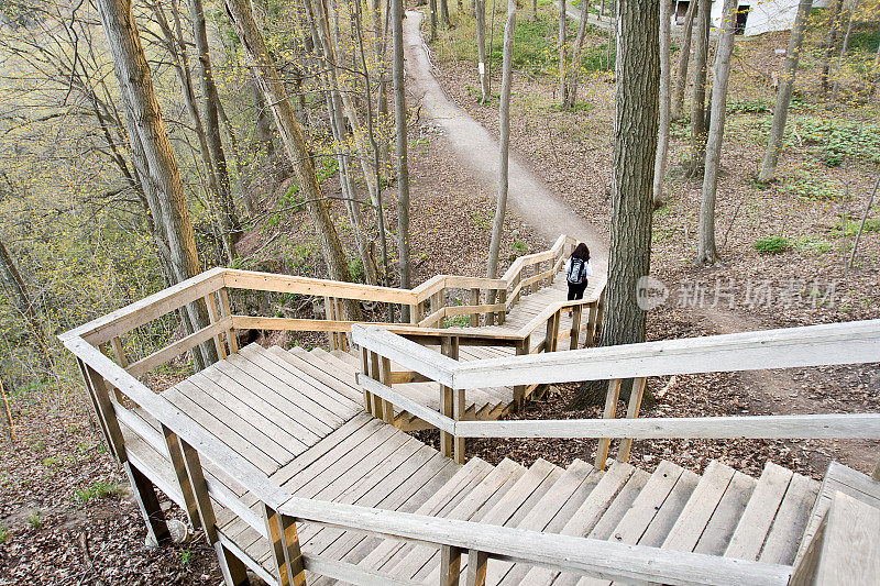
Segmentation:
<svg viewBox="0 0 880 586">
<path fill-rule="evenodd" d="M 460 363 L 382 328 L 352 331 L 364 363 L 393 361 L 436 380 L 453 408 L 419 417 L 454 443 L 464 460 L 466 438 L 596 438 L 596 467 L 604 468 L 610 440 L 619 438 L 617 460 L 629 456 L 632 439 L 650 438 L 867 438 L 880 439 L 880 413 L 637 419 L 651 376 L 827 366 L 880 362 L 880 320 L 691 338 L 644 344 L 583 349 Z M 375 355 L 375 357 L 373 357 Z M 626 419 L 615 419 L 623 380 L 632 379 Z M 609 380 L 603 419 L 464 421 L 465 389 L 530 384 Z M 400 408 L 411 399 L 394 390 L 387 377 L 364 368 L 364 390 Z M 448 389 L 448 390 L 446 390 Z M 406 407 L 404 407 L 406 405 Z M 441 402 L 442 406 L 442 402 Z"/>
</svg>

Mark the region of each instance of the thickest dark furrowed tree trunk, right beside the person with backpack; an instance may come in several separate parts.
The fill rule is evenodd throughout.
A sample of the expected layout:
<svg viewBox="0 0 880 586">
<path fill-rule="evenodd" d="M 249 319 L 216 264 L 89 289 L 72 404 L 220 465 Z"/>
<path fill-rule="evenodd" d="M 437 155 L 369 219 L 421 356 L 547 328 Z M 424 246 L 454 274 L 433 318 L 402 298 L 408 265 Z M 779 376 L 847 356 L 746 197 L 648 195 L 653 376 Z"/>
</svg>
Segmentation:
<svg viewBox="0 0 880 586">
<path fill-rule="evenodd" d="M 600 344 L 645 341 L 637 283 L 650 272 L 653 162 L 657 153 L 660 47 L 658 0 L 618 0 L 610 256 Z M 588 382 L 576 402 L 590 402 Z M 607 389 L 607 385 L 601 385 Z M 604 392 L 602 394 L 604 400 Z"/>
</svg>

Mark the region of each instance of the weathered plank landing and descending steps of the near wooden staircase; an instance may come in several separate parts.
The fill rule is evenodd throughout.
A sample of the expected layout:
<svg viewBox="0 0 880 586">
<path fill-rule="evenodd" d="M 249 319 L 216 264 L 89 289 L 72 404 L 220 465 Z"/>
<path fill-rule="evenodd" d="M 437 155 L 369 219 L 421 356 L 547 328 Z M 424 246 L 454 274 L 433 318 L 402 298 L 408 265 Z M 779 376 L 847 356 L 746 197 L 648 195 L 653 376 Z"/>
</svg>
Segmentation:
<svg viewBox="0 0 880 586">
<path fill-rule="evenodd" d="M 290 496 L 386 510 L 791 564 L 820 489 L 772 463 L 757 480 L 717 462 L 702 477 L 670 462 L 652 474 L 623 463 L 600 472 L 581 461 L 565 469 L 543 460 L 528 468 L 509 460 L 455 464 L 364 413 L 353 368 L 320 350 L 251 345 L 163 396 Z M 132 433 L 130 423 L 122 429 L 129 457 L 185 507 L 167 455 Z M 157 425 L 153 433 L 161 434 Z M 243 520 L 260 518 L 261 504 L 216 467 L 205 468 L 209 484 L 252 506 L 232 511 L 213 502 L 221 539 L 272 582 L 270 544 Z M 300 524 L 299 539 L 306 555 L 404 582 L 439 579 L 439 553 L 430 546 L 310 523 Z M 486 583 L 607 584 L 510 563 L 490 565 Z"/>
</svg>

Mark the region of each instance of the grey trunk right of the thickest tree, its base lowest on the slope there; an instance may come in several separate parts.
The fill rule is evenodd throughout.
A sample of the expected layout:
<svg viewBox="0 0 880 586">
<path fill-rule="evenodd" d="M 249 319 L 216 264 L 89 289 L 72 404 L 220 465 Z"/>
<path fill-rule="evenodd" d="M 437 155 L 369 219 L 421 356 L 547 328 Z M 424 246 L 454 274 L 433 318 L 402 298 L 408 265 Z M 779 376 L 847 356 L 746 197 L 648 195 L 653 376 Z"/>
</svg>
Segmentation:
<svg viewBox="0 0 880 586">
<path fill-rule="evenodd" d="M 802 0 L 810 4 L 811 0 Z M 730 56 L 734 53 L 737 0 L 724 1 L 722 29 L 715 51 L 715 69 L 712 73 L 712 118 L 706 145 L 706 170 L 703 174 L 703 192 L 700 198 L 700 245 L 696 262 L 701 265 L 718 261 L 715 246 L 715 194 L 718 188 L 724 121 L 727 111 L 727 84 L 730 79 Z"/>
</svg>

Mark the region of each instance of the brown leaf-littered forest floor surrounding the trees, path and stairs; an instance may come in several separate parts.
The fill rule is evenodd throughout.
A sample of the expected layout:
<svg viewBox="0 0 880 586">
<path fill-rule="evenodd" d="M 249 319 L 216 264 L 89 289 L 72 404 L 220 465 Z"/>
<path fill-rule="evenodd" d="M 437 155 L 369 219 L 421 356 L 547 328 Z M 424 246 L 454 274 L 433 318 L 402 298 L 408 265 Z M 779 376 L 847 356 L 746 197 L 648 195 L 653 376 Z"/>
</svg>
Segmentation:
<svg viewBox="0 0 880 586">
<path fill-rule="evenodd" d="M 494 139 L 497 100 L 485 106 L 476 101 L 475 63 L 455 53 L 461 44 L 455 35 L 465 31 L 460 26 L 432 44 L 433 74 L 449 99 Z M 603 38 L 591 33 L 590 43 L 597 52 Z M 772 95 L 770 71 L 780 66 L 774 49 L 784 47 L 785 42 L 783 34 L 749 40 L 736 57 L 734 87 L 738 93 L 728 122 L 717 210 L 723 264 L 716 267 L 700 268 L 691 263 L 701 181 L 684 179 L 678 172 L 688 145 L 685 126 L 673 126 L 668 203 L 654 215 L 652 256 L 652 274 L 669 286 L 670 297 L 649 313 L 652 340 L 880 317 L 880 223 L 870 224 L 877 228 L 862 236 L 855 267 L 846 268 L 854 223 L 880 161 L 866 159 L 878 148 L 873 139 L 866 139 L 878 135 L 876 104 L 826 112 L 805 91 L 804 101 L 790 118 L 792 142 L 780 164 L 779 180 L 766 188 L 752 180 L 770 115 L 761 96 Z M 815 86 L 815 59 L 812 67 L 810 58 L 804 60 L 802 82 Z M 512 147 L 524 173 L 531 174 L 541 189 L 532 194 L 532 201 L 514 206 L 506 219 L 504 266 L 519 254 L 546 247 L 562 231 L 558 218 L 547 218 L 543 223 L 528 221 L 536 210 L 544 210 L 544 201 L 537 197 L 541 194 L 572 210 L 565 218 L 582 226 L 581 234 L 601 240 L 607 234 L 614 113 L 610 78 L 607 71 L 596 71 L 582 86 L 578 112 L 562 112 L 554 106 L 558 89 L 552 77 L 532 70 L 528 59 L 522 63 L 515 77 Z M 498 81 L 495 76 L 493 84 Z M 424 92 L 410 89 L 410 103 L 418 103 Z M 837 165 L 827 166 L 827 141 L 816 136 L 832 134 L 856 146 Z M 450 141 L 437 121 L 418 115 L 409 137 L 414 281 L 440 273 L 482 276 L 495 185 L 475 180 L 468 165 L 451 164 L 461 156 L 460 145 Z M 488 164 L 497 161 L 495 152 L 481 151 L 473 157 Z M 331 178 L 324 189 L 334 195 L 338 185 Z M 283 208 L 284 197 L 285 190 L 276 188 L 262 206 L 272 212 Z M 394 225 L 393 190 L 386 198 L 387 221 Z M 877 219 L 878 211 L 880 207 L 871 210 L 870 218 Z M 334 212 L 350 244 L 342 210 L 336 207 Z M 244 239 L 242 247 L 249 253 L 243 266 L 322 276 L 301 213 L 268 213 Z M 784 239 L 784 250 L 759 253 L 756 242 L 771 236 Z M 272 342 L 290 344 L 294 340 Z M 298 342 L 319 343 L 318 339 Z M 216 559 L 202 538 L 170 549 L 144 545 L 140 512 L 127 493 L 124 473 L 107 453 L 94 424 L 87 397 L 76 382 L 64 387 L 68 390 L 57 396 L 25 392 L 12 401 L 16 440 L 0 446 L 0 585 L 217 584 Z M 657 402 L 646 406 L 642 414 L 877 411 L 879 387 L 877 365 L 660 377 L 651 380 Z M 529 403 L 518 417 L 597 416 L 597 409 L 569 409 L 575 392 L 575 386 L 551 388 L 544 400 Z M 422 435 L 432 440 L 430 433 Z M 595 442 L 576 440 L 474 441 L 469 443 L 469 454 L 491 462 L 506 455 L 524 464 L 543 457 L 565 465 L 575 457 L 592 460 L 594 447 Z M 632 453 L 634 460 L 649 469 L 664 458 L 702 472 L 708 461 L 717 458 L 758 475 L 770 460 L 818 478 L 831 458 L 869 472 L 878 445 L 669 440 L 636 442 Z M 182 518 L 176 508 L 169 509 L 169 515 Z"/>
</svg>

